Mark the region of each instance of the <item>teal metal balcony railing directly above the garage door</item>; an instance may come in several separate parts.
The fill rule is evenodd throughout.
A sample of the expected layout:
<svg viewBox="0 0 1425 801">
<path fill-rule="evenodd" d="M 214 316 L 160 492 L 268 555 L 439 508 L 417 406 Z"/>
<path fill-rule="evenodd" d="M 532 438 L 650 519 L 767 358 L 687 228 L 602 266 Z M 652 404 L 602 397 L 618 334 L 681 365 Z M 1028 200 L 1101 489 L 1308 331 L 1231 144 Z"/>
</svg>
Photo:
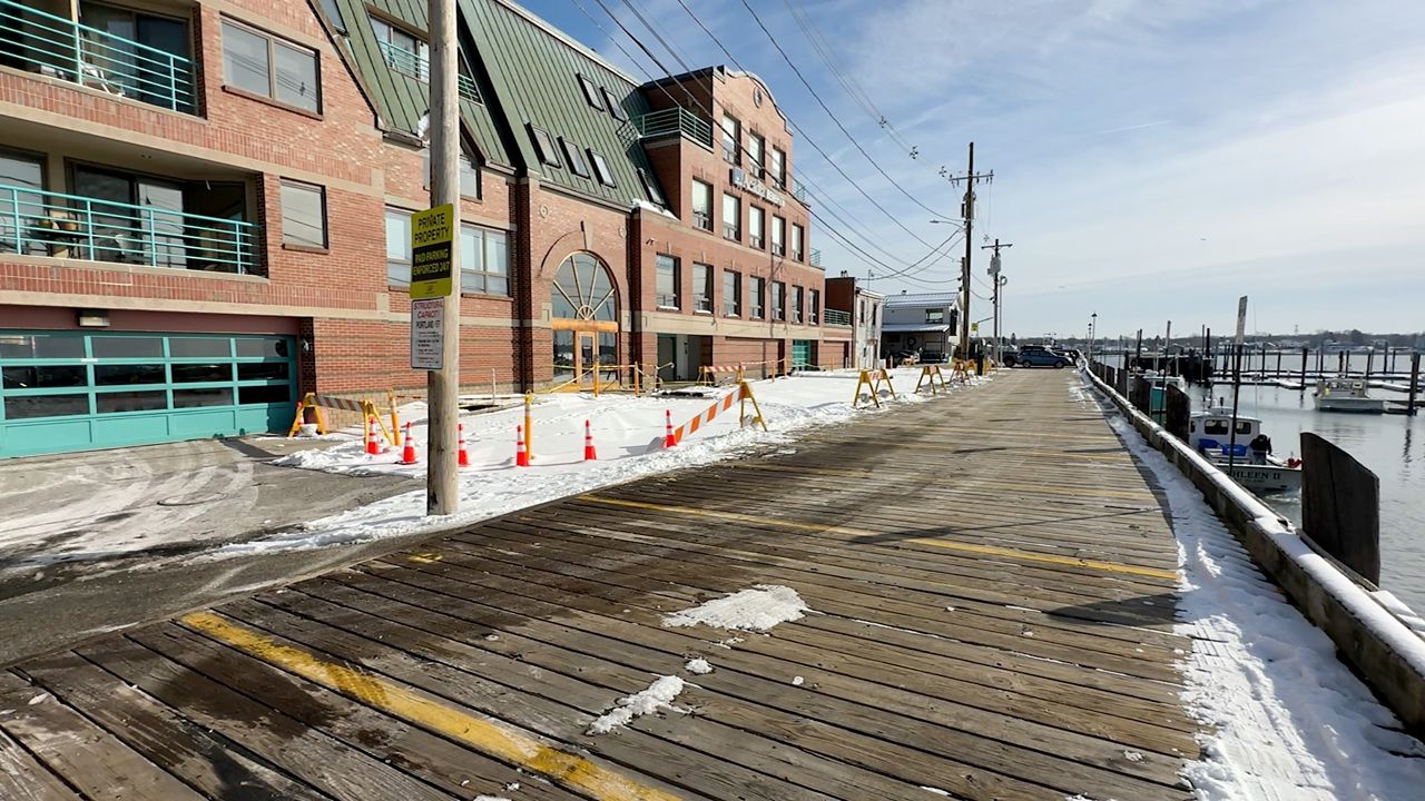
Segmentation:
<svg viewBox="0 0 1425 801">
<path fill-rule="evenodd" d="M 241 275 L 256 237 L 242 219 L 0 184 L 0 252 Z"/>
</svg>

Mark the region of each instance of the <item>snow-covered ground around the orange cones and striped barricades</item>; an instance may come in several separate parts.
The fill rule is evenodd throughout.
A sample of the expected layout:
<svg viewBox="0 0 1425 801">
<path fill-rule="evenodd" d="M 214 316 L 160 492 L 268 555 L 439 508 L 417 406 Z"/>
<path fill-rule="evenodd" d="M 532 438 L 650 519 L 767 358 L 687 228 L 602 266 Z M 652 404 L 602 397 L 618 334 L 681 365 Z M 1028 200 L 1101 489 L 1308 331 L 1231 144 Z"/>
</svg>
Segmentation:
<svg viewBox="0 0 1425 801">
<path fill-rule="evenodd" d="M 891 371 L 901 392 L 901 402 L 929 400 L 928 393 L 911 395 L 919 371 Z M 760 428 L 738 428 L 737 405 L 720 413 L 711 423 L 685 435 L 677 448 L 663 448 L 664 412 L 673 413 L 673 423 L 681 425 L 731 388 L 698 388 L 705 396 L 691 398 L 634 398 L 628 395 L 554 393 L 542 395 L 533 408 L 533 466 L 514 467 L 514 428 L 523 423 L 522 405 L 497 412 L 465 415 L 470 467 L 460 470 L 460 512 L 447 517 L 425 516 L 425 489 L 388 497 L 361 509 L 352 509 L 306 523 L 275 536 L 237 543 L 211 552 L 211 557 L 244 556 L 353 544 L 379 539 L 432 534 L 450 526 L 475 523 L 519 509 L 546 503 L 581 492 L 628 482 L 637 477 L 720 462 L 778 442 L 789 442 L 789 433 L 815 425 L 835 425 L 852 418 L 878 413 L 875 409 L 852 409 L 851 396 L 856 388 L 856 372 L 817 372 L 777 381 L 748 382 L 761 406 L 770 432 Z M 975 378 L 956 391 L 979 386 L 989 378 Z M 882 406 L 886 406 L 885 403 Z M 895 408 L 889 405 L 886 408 Z M 748 412 L 752 408 L 748 403 Z M 392 449 L 379 456 L 363 452 L 361 432 L 351 442 L 325 450 L 302 450 L 276 463 L 343 475 L 398 475 L 423 482 L 426 472 L 426 413 L 423 403 L 402 409 L 402 420 L 412 420 L 416 445 L 415 465 L 396 465 L 400 453 Z M 593 425 L 597 462 L 584 462 L 584 420 Z"/>
</svg>

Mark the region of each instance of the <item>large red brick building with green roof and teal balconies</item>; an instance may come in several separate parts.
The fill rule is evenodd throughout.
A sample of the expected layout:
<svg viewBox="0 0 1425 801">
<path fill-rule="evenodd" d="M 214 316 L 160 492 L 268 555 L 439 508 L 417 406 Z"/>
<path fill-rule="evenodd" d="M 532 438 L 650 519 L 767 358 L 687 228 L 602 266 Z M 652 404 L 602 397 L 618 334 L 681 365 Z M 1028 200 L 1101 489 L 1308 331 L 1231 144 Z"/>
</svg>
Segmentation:
<svg viewBox="0 0 1425 801">
<path fill-rule="evenodd" d="M 281 430 L 301 392 L 423 389 L 423 11 L 0 0 L 0 456 Z M 641 86 L 507 0 L 459 11 L 462 383 L 822 361 L 768 87 Z"/>
</svg>

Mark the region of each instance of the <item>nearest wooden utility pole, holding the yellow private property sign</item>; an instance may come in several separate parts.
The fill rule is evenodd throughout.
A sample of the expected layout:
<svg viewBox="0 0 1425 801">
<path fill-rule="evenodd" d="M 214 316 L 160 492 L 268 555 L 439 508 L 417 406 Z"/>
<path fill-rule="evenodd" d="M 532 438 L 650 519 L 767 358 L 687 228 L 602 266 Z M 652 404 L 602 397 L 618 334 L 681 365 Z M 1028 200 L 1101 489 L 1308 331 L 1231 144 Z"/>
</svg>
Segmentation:
<svg viewBox="0 0 1425 801">
<path fill-rule="evenodd" d="M 460 111 L 456 100 L 456 0 L 429 0 L 430 19 L 430 207 L 455 207 L 450 264 L 460 264 Z M 455 267 L 459 271 L 459 267 Z M 459 272 L 456 274 L 459 275 Z M 459 286 L 459 278 L 455 279 Z M 426 373 L 426 515 L 460 507 L 456 423 L 460 422 L 460 292 L 442 298 L 440 369 Z"/>
</svg>

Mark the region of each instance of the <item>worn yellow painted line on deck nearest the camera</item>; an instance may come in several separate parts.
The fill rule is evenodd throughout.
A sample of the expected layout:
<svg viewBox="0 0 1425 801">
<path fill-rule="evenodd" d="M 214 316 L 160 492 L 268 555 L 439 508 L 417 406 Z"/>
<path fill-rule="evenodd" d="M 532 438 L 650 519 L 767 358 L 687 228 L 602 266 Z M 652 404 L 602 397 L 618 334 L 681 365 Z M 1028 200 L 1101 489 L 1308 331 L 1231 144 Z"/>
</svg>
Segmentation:
<svg viewBox="0 0 1425 801">
<path fill-rule="evenodd" d="M 299 648 L 275 643 L 211 611 L 195 611 L 180 620 L 184 626 L 268 664 L 472 745 L 483 754 L 544 775 L 550 781 L 577 790 L 590 798 L 600 801 L 678 801 L 677 795 L 644 787 L 583 757 L 551 748 L 536 737 L 439 704 L 393 681 L 343 664 L 323 661 Z"/>
</svg>

